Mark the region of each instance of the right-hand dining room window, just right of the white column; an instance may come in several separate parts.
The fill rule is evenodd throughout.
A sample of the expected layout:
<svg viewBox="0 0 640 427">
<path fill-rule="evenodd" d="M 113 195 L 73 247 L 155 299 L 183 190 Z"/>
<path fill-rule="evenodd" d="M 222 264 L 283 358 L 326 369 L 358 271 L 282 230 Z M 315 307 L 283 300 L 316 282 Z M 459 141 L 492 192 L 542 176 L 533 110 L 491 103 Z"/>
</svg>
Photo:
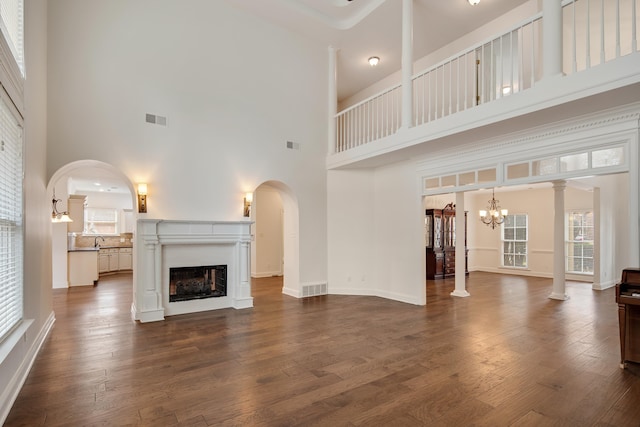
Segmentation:
<svg viewBox="0 0 640 427">
<path fill-rule="evenodd" d="M 593 212 L 568 212 L 566 224 L 566 271 L 593 274 Z"/>
</svg>

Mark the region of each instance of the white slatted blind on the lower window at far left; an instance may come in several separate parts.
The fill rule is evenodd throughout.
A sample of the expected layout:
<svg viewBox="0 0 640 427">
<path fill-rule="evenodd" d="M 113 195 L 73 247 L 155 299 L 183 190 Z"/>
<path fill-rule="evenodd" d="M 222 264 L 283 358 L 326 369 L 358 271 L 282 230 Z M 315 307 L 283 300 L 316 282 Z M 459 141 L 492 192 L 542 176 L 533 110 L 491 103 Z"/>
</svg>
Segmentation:
<svg viewBox="0 0 640 427">
<path fill-rule="evenodd" d="M 23 317 L 22 131 L 0 98 L 0 341 Z"/>
</svg>

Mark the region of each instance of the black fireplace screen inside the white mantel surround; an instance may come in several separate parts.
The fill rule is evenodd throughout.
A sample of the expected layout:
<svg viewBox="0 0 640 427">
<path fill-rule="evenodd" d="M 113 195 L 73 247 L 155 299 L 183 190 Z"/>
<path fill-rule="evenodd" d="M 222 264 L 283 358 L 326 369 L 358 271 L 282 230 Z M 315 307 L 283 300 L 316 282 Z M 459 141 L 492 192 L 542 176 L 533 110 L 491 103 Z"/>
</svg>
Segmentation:
<svg viewBox="0 0 640 427">
<path fill-rule="evenodd" d="M 226 265 L 169 269 L 169 302 L 224 297 L 226 295 Z"/>
</svg>

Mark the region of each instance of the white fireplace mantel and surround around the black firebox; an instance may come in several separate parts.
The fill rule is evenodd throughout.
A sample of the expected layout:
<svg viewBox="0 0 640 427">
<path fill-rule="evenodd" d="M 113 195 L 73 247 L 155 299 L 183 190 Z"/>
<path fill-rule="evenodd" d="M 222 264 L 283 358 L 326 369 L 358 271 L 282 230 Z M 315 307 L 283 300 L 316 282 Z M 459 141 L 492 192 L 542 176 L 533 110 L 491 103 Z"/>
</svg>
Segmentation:
<svg viewBox="0 0 640 427">
<path fill-rule="evenodd" d="M 253 307 L 250 244 L 250 221 L 138 220 L 133 318 Z M 227 265 L 226 297 L 169 302 L 169 268 L 214 264 Z"/>
</svg>

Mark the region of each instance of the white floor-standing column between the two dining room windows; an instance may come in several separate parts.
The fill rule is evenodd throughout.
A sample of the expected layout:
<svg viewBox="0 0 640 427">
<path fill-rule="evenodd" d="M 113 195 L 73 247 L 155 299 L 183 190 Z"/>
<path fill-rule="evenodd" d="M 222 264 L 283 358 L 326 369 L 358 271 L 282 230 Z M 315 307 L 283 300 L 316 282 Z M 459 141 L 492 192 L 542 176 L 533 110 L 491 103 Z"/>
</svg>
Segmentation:
<svg viewBox="0 0 640 427">
<path fill-rule="evenodd" d="M 565 181 L 553 182 L 553 290 L 549 298 L 567 300 L 564 279 L 564 190 Z"/>
</svg>

